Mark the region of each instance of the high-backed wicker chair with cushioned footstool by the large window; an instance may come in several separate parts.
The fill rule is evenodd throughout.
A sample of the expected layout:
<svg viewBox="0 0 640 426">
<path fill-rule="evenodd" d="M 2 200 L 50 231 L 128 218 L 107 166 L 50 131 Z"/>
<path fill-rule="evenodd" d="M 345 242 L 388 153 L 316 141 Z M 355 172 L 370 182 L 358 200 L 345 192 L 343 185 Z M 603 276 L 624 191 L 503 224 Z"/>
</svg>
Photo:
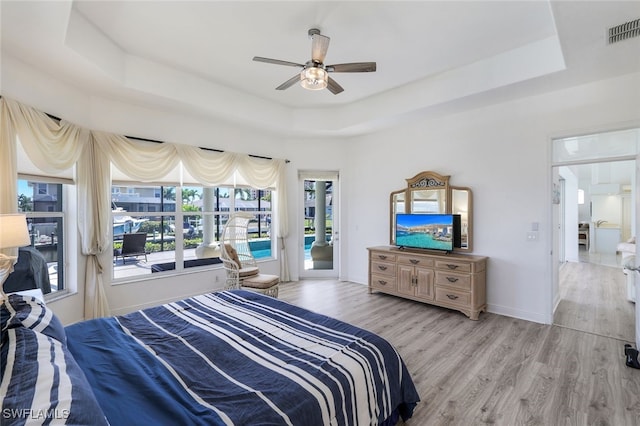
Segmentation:
<svg viewBox="0 0 640 426">
<path fill-rule="evenodd" d="M 248 227 L 253 217 L 250 213 L 234 213 L 222 230 L 220 260 L 227 274 L 224 289 L 251 290 L 277 298 L 280 277 L 261 274 L 251 253 Z"/>
</svg>

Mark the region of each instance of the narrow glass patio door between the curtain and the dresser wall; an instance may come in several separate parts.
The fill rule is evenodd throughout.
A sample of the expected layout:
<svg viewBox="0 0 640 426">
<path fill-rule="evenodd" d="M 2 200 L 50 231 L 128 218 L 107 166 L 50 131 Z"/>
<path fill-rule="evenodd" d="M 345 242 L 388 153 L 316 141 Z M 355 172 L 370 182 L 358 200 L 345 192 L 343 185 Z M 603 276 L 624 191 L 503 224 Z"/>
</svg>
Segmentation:
<svg viewBox="0 0 640 426">
<path fill-rule="evenodd" d="M 337 172 L 300 172 L 300 278 L 338 277 Z"/>
</svg>

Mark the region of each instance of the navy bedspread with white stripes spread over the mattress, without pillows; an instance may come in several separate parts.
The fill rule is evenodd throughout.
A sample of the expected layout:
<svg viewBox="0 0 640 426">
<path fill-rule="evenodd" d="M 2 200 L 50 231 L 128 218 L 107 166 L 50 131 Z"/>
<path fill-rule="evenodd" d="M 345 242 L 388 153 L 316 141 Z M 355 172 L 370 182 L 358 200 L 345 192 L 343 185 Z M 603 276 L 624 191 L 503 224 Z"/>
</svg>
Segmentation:
<svg viewBox="0 0 640 426">
<path fill-rule="evenodd" d="M 381 337 L 227 291 L 66 327 L 112 425 L 378 425 L 411 417 L 407 368 Z"/>
</svg>

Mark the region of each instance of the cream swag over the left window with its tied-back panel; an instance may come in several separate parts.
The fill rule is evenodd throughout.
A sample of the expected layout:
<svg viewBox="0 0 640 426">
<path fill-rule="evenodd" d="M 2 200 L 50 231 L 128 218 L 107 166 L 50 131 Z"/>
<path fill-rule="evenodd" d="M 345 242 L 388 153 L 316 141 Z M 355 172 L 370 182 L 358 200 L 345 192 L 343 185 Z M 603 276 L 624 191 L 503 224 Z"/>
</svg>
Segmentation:
<svg viewBox="0 0 640 426">
<path fill-rule="evenodd" d="M 17 209 L 17 179 L 16 163 L 17 137 L 29 156 L 29 159 L 40 170 L 56 173 L 67 170 L 77 164 L 78 168 L 78 230 L 82 240 L 82 254 L 87 256 L 85 271 L 85 303 L 84 317 L 95 318 L 109 314 L 109 306 L 104 294 L 102 280 L 102 265 L 99 254 L 108 247 L 108 239 L 104 234 L 104 214 L 100 197 L 100 188 L 104 186 L 105 177 L 101 176 L 102 167 L 99 164 L 108 158 L 104 153 L 94 151 L 94 142 L 90 131 L 72 123 L 56 121 L 46 114 L 22 105 L 11 99 L 2 98 L 2 145 L 12 155 L 3 163 L 8 163 L 11 175 L 3 179 L 3 193 L 11 192 L 12 200 L 6 200 L 7 205 Z M 82 156 L 82 157 L 81 157 Z M 5 157 L 2 157 L 5 159 Z M 13 165 L 12 165 L 13 163 Z M 4 169 L 4 167 L 2 167 Z M 109 173 L 106 169 L 106 198 L 110 191 Z M 4 176 L 3 176 L 4 177 Z M 97 185 L 97 182 L 102 182 Z M 6 186 L 5 186 L 6 185 Z M 3 209 L 6 196 L 3 195 Z M 107 204 L 109 206 L 109 204 Z M 108 212 L 109 210 L 107 210 Z M 106 225 L 108 226 L 108 224 Z M 108 235 L 108 229 L 107 234 Z"/>
</svg>

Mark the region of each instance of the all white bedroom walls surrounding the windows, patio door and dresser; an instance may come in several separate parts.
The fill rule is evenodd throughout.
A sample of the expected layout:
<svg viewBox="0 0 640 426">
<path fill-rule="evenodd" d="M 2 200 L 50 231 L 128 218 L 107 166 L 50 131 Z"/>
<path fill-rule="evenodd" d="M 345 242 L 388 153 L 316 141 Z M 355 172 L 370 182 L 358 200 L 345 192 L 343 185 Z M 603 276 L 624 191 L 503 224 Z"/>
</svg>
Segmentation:
<svg viewBox="0 0 640 426">
<path fill-rule="evenodd" d="M 4 58 L 3 58 L 4 60 Z M 341 185 L 342 279 L 366 283 L 367 250 L 389 241 L 389 193 L 424 170 L 451 175 L 474 196 L 474 254 L 490 258 L 489 311 L 551 321 L 551 137 L 609 130 L 638 120 L 640 74 L 542 96 L 415 121 L 350 139 L 285 140 L 197 115 L 151 111 L 83 95 L 23 64 L 3 62 L 3 95 L 77 124 L 131 136 L 288 158 L 287 251 L 297 277 L 297 170 L 338 170 Z M 34 90 L 37 88 L 37 90 Z M 539 240 L 527 231 L 539 223 Z M 106 259 L 110 261 L 109 256 Z M 277 262 L 264 266 L 277 269 Z M 83 271 L 78 271 L 82 277 Z M 217 287 L 221 271 L 111 286 L 114 313 L 174 300 Z M 364 289 L 363 289 L 364 291 Z M 82 294 L 53 302 L 65 323 L 82 318 Z"/>
</svg>

